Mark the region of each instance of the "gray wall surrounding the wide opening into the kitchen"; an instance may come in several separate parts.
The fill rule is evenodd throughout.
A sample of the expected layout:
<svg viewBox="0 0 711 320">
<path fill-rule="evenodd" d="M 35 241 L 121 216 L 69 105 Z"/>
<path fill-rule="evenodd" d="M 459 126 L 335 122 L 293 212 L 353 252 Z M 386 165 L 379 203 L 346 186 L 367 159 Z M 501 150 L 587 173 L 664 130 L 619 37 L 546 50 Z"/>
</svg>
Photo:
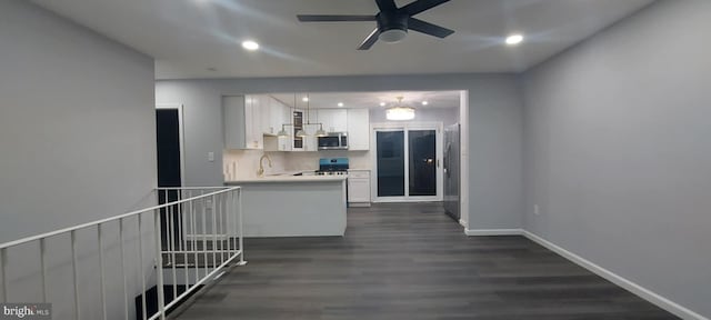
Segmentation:
<svg viewBox="0 0 711 320">
<path fill-rule="evenodd" d="M 326 77 L 158 81 L 158 103 L 184 106 L 186 181 L 222 182 L 221 96 L 269 92 L 469 90 L 471 229 L 522 226 L 521 101 L 513 76 Z M 463 121 L 462 121 L 463 122 Z M 217 154 L 208 161 L 208 152 Z"/>
</svg>

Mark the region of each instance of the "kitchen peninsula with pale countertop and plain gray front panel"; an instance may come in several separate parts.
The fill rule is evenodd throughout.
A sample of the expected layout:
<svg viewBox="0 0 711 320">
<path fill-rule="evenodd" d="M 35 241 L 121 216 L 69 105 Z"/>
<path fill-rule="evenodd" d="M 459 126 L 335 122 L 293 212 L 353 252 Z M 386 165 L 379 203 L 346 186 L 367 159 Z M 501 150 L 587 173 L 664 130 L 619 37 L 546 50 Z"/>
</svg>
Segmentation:
<svg viewBox="0 0 711 320">
<path fill-rule="evenodd" d="M 242 187 L 244 237 L 346 233 L 346 178 L 269 176 L 226 181 Z"/>
</svg>

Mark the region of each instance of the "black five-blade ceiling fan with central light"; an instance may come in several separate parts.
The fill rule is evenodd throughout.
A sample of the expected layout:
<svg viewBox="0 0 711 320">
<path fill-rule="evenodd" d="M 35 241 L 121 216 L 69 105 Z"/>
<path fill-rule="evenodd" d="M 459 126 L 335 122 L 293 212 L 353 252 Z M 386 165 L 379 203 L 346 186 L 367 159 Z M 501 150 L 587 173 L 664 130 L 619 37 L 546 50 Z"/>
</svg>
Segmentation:
<svg viewBox="0 0 711 320">
<path fill-rule="evenodd" d="M 394 0 L 375 0 L 380 12 L 374 16 L 298 14 L 297 18 L 299 18 L 301 22 L 375 21 L 378 22 L 375 30 L 370 32 L 365 40 L 360 43 L 360 47 L 358 47 L 358 50 L 368 50 L 378 40 L 390 43 L 399 42 L 408 36 L 408 30 L 414 30 L 438 38 L 445 38 L 454 33 L 454 30 L 412 18 L 412 16 L 448 1 L 449 0 L 417 0 L 402 8 L 398 8 Z"/>
</svg>

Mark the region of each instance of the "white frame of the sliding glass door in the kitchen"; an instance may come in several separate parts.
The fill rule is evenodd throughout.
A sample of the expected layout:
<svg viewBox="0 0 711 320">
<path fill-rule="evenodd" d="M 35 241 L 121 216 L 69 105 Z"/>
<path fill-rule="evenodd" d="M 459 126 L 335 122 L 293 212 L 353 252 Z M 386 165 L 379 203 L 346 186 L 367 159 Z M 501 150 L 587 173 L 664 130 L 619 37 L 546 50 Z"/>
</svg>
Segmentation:
<svg viewBox="0 0 711 320">
<path fill-rule="evenodd" d="M 405 194 L 402 197 L 378 197 L 378 131 L 404 131 L 404 171 L 405 171 Z M 435 154 L 435 166 L 437 166 L 437 196 L 408 196 L 408 191 L 410 188 L 410 143 L 408 139 L 409 130 L 434 130 L 434 154 Z M 372 146 L 371 153 L 371 163 L 373 168 L 373 177 L 371 178 L 370 183 L 370 194 L 372 202 L 428 202 L 428 201 L 442 201 L 443 192 L 444 192 L 444 174 L 442 170 L 442 156 L 443 156 L 443 123 L 441 121 L 427 121 L 427 122 L 380 122 L 380 123 L 371 123 L 370 124 L 370 146 Z"/>
</svg>

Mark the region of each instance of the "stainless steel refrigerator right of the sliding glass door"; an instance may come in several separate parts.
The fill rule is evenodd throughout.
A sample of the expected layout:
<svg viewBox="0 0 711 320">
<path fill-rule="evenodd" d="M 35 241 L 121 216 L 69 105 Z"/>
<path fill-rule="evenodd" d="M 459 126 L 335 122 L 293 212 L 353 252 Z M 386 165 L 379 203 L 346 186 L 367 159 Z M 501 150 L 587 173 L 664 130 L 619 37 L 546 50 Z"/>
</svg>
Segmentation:
<svg viewBox="0 0 711 320">
<path fill-rule="evenodd" d="M 457 222 L 460 212 L 459 123 L 444 128 L 444 212 Z"/>
</svg>

